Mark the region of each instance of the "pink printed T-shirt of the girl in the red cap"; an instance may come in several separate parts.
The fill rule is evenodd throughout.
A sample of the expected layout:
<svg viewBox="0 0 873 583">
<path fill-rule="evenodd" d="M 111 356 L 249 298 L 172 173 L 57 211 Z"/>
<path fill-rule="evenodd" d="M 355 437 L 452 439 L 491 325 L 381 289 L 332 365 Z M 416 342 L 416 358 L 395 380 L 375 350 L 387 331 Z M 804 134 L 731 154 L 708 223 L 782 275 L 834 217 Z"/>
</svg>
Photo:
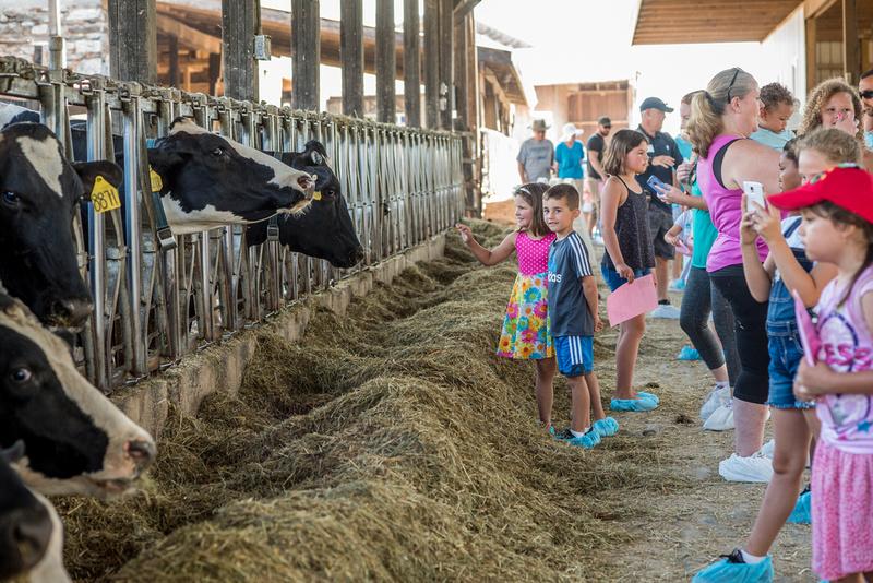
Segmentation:
<svg viewBox="0 0 873 583">
<path fill-rule="evenodd" d="M 873 335 L 861 310 L 861 298 L 873 291 L 873 266 L 858 277 L 849 297 L 834 279 L 818 300 L 818 360 L 838 372 L 873 370 Z M 873 454 L 873 395 L 824 395 L 815 407 L 822 439 L 847 453 Z"/>
</svg>

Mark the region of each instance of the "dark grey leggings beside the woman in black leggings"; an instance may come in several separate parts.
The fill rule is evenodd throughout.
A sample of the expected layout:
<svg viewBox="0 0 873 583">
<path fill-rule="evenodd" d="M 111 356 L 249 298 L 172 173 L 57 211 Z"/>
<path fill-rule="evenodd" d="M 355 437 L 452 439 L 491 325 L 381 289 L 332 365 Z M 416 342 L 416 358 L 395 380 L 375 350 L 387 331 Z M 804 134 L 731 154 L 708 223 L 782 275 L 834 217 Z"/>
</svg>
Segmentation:
<svg viewBox="0 0 873 583">
<path fill-rule="evenodd" d="M 710 313 L 716 334 L 709 328 Z M 685 291 L 682 294 L 679 325 L 701 353 L 701 358 L 709 370 L 715 370 L 727 361 L 728 378 L 733 386 L 740 372 L 740 359 L 733 337 L 733 312 L 718 289 L 709 285 L 709 274 L 703 267 L 691 267 L 689 271 Z"/>
</svg>

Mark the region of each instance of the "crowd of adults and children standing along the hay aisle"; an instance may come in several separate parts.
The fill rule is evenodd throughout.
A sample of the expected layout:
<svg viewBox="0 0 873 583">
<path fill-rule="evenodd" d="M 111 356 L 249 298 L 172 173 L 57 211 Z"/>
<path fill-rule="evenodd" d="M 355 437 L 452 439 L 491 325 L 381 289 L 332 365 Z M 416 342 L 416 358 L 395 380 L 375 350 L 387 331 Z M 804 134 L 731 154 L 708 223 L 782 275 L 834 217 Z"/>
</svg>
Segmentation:
<svg viewBox="0 0 873 583">
<path fill-rule="evenodd" d="M 517 230 L 489 251 L 458 226 L 483 264 L 516 252 L 498 354 L 537 362 L 539 420 L 572 445 L 591 449 L 619 430 L 594 371 L 601 298 L 586 239 L 603 246 L 612 293 L 654 276 L 649 316 L 679 318 L 693 346 L 680 358 L 698 357 L 713 374 L 703 428 L 734 431 L 719 474 L 768 483 L 749 537 L 696 582 L 772 581 L 769 550 L 786 522 L 812 523 L 820 576 L 873 581 L 873 70 L 858 88 L 817 85 L 793 131 L 797 107 L 785 86 L 733 68 L 681 99 L 675 138 L 662 131 L 673 108 L 657 97 L 642 102 L 635 130 L 610 136 L 601 117 L 587 144 L 569 123 L 553 147 L 535 121 L 517 158 Z M 683 293 L 680 309 L 669 290 Z M 613 412 L 660 404 L 633 382 L 645 319 L 620 323 Z M 551 425 L 555 370 L 572 394 L 561 431 Z"/>
</svg>

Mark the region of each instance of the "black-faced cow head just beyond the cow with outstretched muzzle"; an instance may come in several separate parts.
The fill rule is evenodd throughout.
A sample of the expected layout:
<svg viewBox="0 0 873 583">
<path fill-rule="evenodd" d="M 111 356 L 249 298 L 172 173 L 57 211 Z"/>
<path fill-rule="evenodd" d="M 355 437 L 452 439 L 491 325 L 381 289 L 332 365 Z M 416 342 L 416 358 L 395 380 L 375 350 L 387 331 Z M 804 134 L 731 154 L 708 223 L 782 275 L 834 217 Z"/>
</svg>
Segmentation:
<svg viewBox="0 0 873 583">
<path fill-rule="evenodd" d="M 286 152 L 282 162 L 315 175 L 312 202 L 302 213 L 279 217 L 279 241 L 310 257 L 326 259 L 336 267 L 351 267 L 363 259 L 363 248 L 355 233 L 339 180 L 327 164 L 321 142 L 307 143 L 303 152 Z M 266 240 L 267 224 L 259 223 L 247 229 L 249 245 Z"/>
</svg>

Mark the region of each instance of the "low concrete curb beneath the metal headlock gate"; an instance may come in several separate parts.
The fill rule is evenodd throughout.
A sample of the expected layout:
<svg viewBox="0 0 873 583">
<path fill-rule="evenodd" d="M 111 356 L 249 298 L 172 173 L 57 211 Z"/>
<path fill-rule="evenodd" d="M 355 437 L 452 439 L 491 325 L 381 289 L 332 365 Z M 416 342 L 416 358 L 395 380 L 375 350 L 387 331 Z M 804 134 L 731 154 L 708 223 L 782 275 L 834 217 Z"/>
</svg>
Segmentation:
<svg viewBox="0 0 873 583">
<path fill-rule="evenodd" d="M 278 317 L 259 330 L 272 330 L 290 342 L 298 342 L 307 331 L 310 318 L 319 307 L 337 314 L 346 313 L 356 297 L 369 294 L 376 282 L 390 284 L 394 277 L 419 261 L 443 257 L 445 235 L 430 240 L 378 263 L 367 271 L 337 282 L 334 287 L 313 294 L 306 300 L 285 309 Z M 242 385 L 246 366 L 254 356 L 255 331 L 241 333 L 227 342 L 194 355 L 189 355 L 179 366 L 140 384 L 119 391 L 112 401 L 155 439 L 167 421 L 170 406 L 183 415 L 194 415 L 203 397 L 218 391 L 236 395 Z"/>
</svg>

